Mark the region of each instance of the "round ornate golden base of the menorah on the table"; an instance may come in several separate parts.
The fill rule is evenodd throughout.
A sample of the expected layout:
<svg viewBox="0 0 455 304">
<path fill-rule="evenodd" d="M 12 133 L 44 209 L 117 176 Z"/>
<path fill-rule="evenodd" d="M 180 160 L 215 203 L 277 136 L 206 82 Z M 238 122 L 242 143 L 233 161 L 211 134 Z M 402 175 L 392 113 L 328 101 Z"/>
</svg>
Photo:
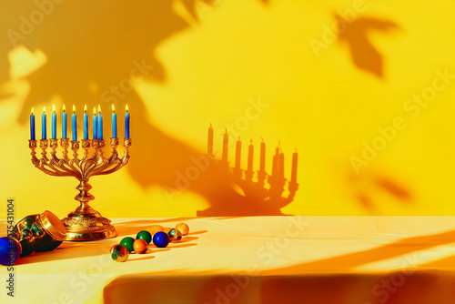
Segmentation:
<svg viewBox="0 0 455 304">
<path fill-rule="evenodd" d="M 110 219 L 101 217 L 97 211 L 84 215 L 77 214 L 76 210 L 62 221 L 66 226 L 65 240 L 86 241 L 117 236 L 116 228 L 110 223 Z"/>
</svg>

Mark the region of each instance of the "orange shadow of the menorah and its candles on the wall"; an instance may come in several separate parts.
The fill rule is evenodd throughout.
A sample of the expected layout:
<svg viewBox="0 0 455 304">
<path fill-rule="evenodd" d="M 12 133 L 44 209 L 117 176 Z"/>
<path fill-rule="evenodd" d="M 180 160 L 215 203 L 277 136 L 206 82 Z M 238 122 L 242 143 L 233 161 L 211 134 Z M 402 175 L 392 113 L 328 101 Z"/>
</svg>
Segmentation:
<svg viewBox="0 0 455 304">
<path fill-rule="evenodd" d="M 284 153 L 281 147 L 277 147 L 275 155 L 272 157 L 272 174 L 266 171 L 266 143 L 260 143 L 259 169 L 254 170 L 254 146 L 250 140 L 248 146 L 248 166 L 247 169 L 241 167 L 241 147 L 240 138 L 236 143 L 236 157 L 234 167 L 231 167 L 228 160 L 228 135 L 223 137 L 223 150 L 221 159 L 217 159 L 213 153 L 213 128 L 208 128 L 207 158 L 210 160 L 210 167 L 215 168 L 216 172 L 224 169 L 231 177 L 227 182 L 233 182 L 233 187 L 238 188 L 237 198 L 230 199 L 229 208 L 224 206 L 226 200 L 212 200 L 212 206 L 205 210 L 197 211 L 198 217 L 209 217 L 217 214 L 224 216 L 265 216 L 265 215 L 284 215 L 280 209 L 288 206 L 293 200 L 298 190 L 297 183 L 297 150 L 292 155 L 291 175 L 288 180 L 285 177 Z M 227 214 L 227 210 L 231 214 Z"/>
</svg>

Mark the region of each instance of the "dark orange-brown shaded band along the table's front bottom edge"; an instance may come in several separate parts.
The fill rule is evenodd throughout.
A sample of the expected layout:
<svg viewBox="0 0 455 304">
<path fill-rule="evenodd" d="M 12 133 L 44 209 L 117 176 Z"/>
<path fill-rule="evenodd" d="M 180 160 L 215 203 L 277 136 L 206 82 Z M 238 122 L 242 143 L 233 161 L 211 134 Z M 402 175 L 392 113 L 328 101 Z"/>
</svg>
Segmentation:
<svg viewBox="0 0 455 304">
<path fill-rule="evenodd" d="M 114 279 L 104 289 L 104 302 L 125 303 L 134 299 L 143 303 L 455 303 L 455 274 L 438 271 L 326 276 L 308 273 L 241 276 L 216 271 L 176 274 L 177 271 L 168 271 Z"/>
</svg>

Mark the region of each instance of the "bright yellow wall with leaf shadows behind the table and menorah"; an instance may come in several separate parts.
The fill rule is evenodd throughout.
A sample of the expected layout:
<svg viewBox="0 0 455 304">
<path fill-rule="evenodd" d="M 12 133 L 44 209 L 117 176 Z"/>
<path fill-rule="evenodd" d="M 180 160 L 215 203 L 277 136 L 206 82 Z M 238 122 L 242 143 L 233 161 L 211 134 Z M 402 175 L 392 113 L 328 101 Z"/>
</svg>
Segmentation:
<svg viewBox="0 0 455 304">
<path fill-rule="evenodd" d="M 264 137 L 271 172 L 271 155 L 280 141 L 289 177 L 290 157 L 298 149 L 300 188 L 283 213 L 455 215 L 455 78 L 445 84 L 436 72 L 455 74 L 455 4 L 354 3 L 67 1 L 47 7 L 49 14 L 13 46 L 5 33 L 20 32 L 20 16 L 30 19 L 40 8 L 33 1 L 4 2 L 1 200 L 15 198 L 17 218 L 45 209 L 65 217 L 76 208 L 76 179 L 46 176 L 30 162 L 30 108 L 76 104 L 81 117 L 84 104 L 89 109 L 101 104 L 109 112 L 103 92 L 128 77 L 135 61 L 145 60 L 153 69 L 134 82 L 134 91 L 116 100 L 120 109 L 127 103 L 132 116 L 130 164 L 91 179 L 93 206 L 103 215 L 195 216 L 208 208 L 197 189 L 177 195 L 165 189 L 175 187 L 176 172 L 189 166 L 190 156 L 205 151 L 210 123 L 216 134 L 235 126 L 249 102 L 258 100 L 268 107 L 238 130 L 243 165 L 249 139 L 256 144 L 258 160 Z M 354 8 L 363 12 L 356 14 L 350 32 L 349 27 L 341 32 L 345 40 L 329 42 L 317 56 L 310 42 L 324 42 L 324 28 L 332 26 L 337 12 Z M 426 107 L 407 101 L 442 85 Z M 375 139 L 378 127 L 393 126 L 396 117 L 406 127 L 356 173 L 351 157 L 361 157 L 363 142 L 380 140 Z M 105 124 L 105 137 L 108 133 Z M 215 142 L 220 151 L 221 138 Z M 232 162 L 233 156 L 231 145 Z M 216 190 L 217 185 L 207 187 Z"/>
</svg>

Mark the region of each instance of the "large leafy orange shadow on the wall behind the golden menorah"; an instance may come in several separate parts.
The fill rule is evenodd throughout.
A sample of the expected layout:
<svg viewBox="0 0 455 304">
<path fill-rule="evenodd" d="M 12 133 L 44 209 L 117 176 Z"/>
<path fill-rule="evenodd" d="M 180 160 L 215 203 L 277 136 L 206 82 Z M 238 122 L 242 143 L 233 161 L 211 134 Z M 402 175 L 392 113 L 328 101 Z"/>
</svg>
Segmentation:
<svg viewBox="0 0 455 304">
<path fill-rule="evenodd" d="M 197 20 L 196 0 L 178 2 Z M 35 4 L 9 2 L 8 9 L 0 10 L 5 28 L 18 33 L 17 19 L 11 16 L 23 15 L 27 9 L 33 11 Z M 118 12 L 122 12 L 121 20 Z M 18 33 L 0 37 L 0 43 L 6 46 L 0 48 L 0 82 L 10 80 L 12 62 L 7 58 L 15 45 L 25 46 L 26 50 L 21 52 L 28 52 L 33 58 L 37 58 L 39 52 L 46 58 L 42 66 L 25 76 L 30 90 L 17 117 L 20 124 L 27 123 L 32 106 L 40 108 L 55 96 L 59 96 L 66 107 L 75 105 L 78 111 L 87 105 L 89 113 L 98 104 L 105 110 L 113 104 L 120 113 L 128 104 L 133 147 L 126 170 L 138 185 L 163 187 L 171 202 L 183 191 L 196 192 L 211 206 L 197 216 L 282 215 L 280 208 L 288 203 L 264 200 L 261 189 L 248 185 L 242 186 L 245 193 L 239 193 L 235 186 L 238 181 L 227 168 L 208 161 L 204 152 L 191 143 L 171 137 L 158 128 L 147 116 L 146 101 L 133 89 L 135 79 L 158 84 L 167 80 L 165 67 L 155 51 L 166 39 L 189 28 L 187 21 L 176 13 L 174 2 L 154 1 L 141 5 L 125 1 L 109 5 L 103 1 L 65 2 L 56 5 L 52 14 L 39 25 L 39 31 L 36 27 L 31 35 Z M 84 15 L 83 26 L 81 15 Z M 78 125 L 82 134 L 82 124 Z M 110 133 L 108 125 L 105 122 L 105 137 Z M 105 154 L 108 153 L 109 147 L 105 147 Z M 195 172 L 194 168 L 197 178 L 188 177 L 192 170 Z M 120 235 L 130 234 L 126 227 L 118 229 Z"/>
</svg>

